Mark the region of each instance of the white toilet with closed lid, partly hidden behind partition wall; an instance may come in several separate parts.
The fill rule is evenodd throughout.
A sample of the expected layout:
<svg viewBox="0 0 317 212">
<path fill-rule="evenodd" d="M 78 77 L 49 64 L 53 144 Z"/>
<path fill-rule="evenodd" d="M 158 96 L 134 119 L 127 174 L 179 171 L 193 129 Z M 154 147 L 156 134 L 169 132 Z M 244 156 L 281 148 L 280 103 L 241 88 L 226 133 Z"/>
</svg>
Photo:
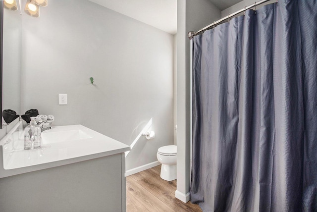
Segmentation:
<svg viewBox="0 0 317 212">
<path fill-rule="evenodd" d="M 169 145 L 160 147 L 157 158 L 162 166 L 160 177 L 163 180 L 172 181 L 176 179 L 177 146 Z"/>
</svg>

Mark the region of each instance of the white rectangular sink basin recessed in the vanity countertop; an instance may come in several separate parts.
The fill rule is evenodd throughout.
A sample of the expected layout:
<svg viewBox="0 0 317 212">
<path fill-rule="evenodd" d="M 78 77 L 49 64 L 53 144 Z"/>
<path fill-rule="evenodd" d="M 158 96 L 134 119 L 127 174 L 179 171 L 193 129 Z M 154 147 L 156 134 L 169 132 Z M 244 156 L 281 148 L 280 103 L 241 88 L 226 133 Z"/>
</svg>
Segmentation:
<svg viewBox="0 0 317 212">
<path fill-rule="evenodd" d="M 82 130 L 66 130 L 59 132 L 50 132 L 49 130 L 47 130 L 42 132 L 41 137 L 44 144 L 93 138 L 93 136 L 87 134 Z"/>
</svg>

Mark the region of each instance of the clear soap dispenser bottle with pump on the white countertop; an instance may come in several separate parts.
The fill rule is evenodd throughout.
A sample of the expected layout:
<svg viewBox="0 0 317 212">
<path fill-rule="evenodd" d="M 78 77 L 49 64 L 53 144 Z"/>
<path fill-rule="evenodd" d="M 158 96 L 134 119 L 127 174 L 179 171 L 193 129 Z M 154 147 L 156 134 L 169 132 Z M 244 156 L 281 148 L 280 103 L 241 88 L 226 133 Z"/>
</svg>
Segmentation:
<svg viewBox="0 0 317 212">
<path fill-rule="evenodd" d="M 41 127 L 36 124 L 36 117 L 31 117 L 30 125 L 24 129 L 24 149 L 34 150 L 41 147 Z"/>
</svg>

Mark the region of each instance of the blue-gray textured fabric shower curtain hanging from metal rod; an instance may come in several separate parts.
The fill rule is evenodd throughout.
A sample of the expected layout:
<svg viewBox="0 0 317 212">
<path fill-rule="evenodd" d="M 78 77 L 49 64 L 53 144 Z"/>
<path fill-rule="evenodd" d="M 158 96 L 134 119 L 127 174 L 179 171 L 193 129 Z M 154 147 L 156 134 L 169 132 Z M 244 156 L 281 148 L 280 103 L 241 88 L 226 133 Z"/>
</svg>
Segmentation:
<svg viewBox="0 0 317 212">
<path fill-rule="evenodd" d="M 191 201 L 317 212 L 317 0 L 279 0 L 193 39 Z"/>
</svg>

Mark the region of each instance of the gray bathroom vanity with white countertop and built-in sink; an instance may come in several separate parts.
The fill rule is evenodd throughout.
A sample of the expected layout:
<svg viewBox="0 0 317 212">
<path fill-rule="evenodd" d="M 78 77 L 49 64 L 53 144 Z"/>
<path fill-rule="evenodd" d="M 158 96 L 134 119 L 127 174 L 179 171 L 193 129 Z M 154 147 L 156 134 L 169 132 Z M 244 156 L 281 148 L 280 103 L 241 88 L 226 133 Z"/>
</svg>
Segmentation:
<svg viewBox="0 0 317 212">
<path fill-rule="evenodd" d="M 1 212 L 125 212 L 130 147 L 82 125 L 42 133 L 23 150 L 22 122 L 0 141 Z"/>
</svg>

